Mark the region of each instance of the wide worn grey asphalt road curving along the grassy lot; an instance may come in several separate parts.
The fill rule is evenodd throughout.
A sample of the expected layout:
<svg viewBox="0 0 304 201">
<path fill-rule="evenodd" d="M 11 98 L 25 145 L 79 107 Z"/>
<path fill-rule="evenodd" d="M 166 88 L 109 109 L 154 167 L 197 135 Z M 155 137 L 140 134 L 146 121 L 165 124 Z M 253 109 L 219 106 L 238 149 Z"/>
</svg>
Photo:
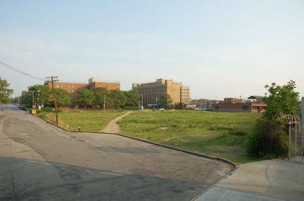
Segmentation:
<svg viewBox="0 0 304 201">
<path fill-rule="evenodd" d="M 0 200 L 194 200 L 234 167 L 113 134 L 68 132 L 4 105 Z"/>
</svg>

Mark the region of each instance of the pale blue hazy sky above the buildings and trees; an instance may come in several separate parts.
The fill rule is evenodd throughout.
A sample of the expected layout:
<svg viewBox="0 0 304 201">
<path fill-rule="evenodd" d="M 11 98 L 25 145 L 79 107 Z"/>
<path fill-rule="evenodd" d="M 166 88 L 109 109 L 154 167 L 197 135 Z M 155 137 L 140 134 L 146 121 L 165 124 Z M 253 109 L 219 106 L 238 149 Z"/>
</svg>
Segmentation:
<svg viewBox="0 0 304 201">
<path fill-rule="evenodd" d="M 303 0 L 0 1 L 0 77 L 13 97 L 46 77 L 134 83 L 167 78 L 192 99 L 304 96 Z"/>
</svg>

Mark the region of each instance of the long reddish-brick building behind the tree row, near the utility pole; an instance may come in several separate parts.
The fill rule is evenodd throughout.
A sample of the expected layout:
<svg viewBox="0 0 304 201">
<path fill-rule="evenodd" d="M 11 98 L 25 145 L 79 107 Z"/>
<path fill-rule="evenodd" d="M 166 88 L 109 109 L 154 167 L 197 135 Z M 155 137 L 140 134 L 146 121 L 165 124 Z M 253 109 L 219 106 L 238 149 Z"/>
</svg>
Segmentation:
<svg viewBox="0 0 304 201">
<path fill-rule="evenodd" d="M 50 89 L 53 89 L 51 81 L 44 82 L 44 85 L 49 86 Z M 54 88 L 61 88 L 64 89 L 72 94 L 71 103 L 75 107 L 77 107 L 76 98 L 77 98 L 77 91 L 79 89 L 94 89 L 96 87 L 104 87 L 110 90 L 120 89 L 120 82 L 109 82 L 103 81 L 102 79 L 96 79 L 91 77 L 88 83 L 80 83 L 80 82 L 54 82 Z"/>
</svg>

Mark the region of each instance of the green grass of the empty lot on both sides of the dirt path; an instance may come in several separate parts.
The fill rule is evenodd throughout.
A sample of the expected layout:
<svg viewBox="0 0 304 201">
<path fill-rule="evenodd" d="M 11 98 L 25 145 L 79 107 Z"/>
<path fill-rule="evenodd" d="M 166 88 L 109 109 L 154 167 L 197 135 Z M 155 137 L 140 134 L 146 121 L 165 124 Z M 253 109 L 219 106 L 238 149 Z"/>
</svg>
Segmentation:
<svg viewBox="0 0 304 201">
<path fill-rule="evenodd" d="M 127 111 L 70 110 L 59 113 L 65 129 L 101 131 Z M 49 114 L 49 118 L 51 118 Z M 246 155 L 246 136 L 260 114 L 194 110 L 134 111 L 118 124 L 121 134 L 175 148 L 222 157 L 236 164 L 253 162 Z M 68 126 L 67 126 L 68 125 Z"/>
</svg>

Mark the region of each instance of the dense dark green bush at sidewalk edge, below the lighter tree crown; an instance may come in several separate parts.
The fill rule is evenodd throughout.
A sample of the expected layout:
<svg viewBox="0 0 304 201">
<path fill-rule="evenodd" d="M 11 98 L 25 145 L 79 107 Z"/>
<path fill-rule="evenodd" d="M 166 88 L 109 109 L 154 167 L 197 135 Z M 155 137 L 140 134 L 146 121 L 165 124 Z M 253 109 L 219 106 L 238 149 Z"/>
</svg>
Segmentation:
<svg viewBox="0 0 304 201">
<path fill-rule="evenodd" d="M 264 159 L 286 157 L 288 143 L 283 122 L 258 119 L 253 133 L 248 135 L 247 153 L 251 157 Z"/>
</svg>

